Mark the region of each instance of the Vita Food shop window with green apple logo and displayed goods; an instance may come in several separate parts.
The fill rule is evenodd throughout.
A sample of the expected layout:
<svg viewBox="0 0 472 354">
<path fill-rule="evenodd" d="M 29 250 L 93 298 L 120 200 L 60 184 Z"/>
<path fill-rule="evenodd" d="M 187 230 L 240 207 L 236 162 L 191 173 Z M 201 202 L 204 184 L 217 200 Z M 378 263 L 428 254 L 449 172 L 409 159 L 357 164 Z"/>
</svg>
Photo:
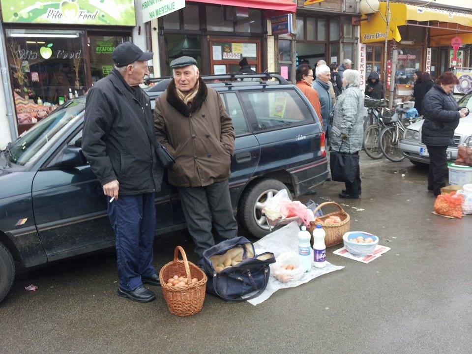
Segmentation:
<svg viewBox="0 0 472 354">
<path fill-rule="evenodd" d="M 6 47 L 19 124 L 88 89 L 83 31 L 6 29 Z"/>
</svg>

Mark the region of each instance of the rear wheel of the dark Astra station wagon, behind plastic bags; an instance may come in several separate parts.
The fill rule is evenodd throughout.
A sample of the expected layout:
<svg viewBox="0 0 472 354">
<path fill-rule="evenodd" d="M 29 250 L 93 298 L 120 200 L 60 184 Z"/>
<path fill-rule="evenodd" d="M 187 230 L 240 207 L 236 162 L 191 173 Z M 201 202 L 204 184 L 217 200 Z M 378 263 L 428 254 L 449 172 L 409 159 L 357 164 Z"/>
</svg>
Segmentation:
<svg viewBox="0 0 472 354">
<path fill-rule="evenodd" d="M 251 235 L 257 238 L 269 233 L 266 216 L 262 214 L 266 202 L 279 190 L 287 189 L 287 186 L 277 179 L 261 179 L 251 185 L 242 195 L 238 207 L 238 217 L 242 226 Z"/>
</svg>

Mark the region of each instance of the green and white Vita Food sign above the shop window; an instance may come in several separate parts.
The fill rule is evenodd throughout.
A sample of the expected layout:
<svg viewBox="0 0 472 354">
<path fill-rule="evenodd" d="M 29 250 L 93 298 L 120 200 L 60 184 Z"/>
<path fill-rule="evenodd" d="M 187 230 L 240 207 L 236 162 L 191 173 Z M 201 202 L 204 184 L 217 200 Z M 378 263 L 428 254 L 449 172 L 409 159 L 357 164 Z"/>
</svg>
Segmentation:
<svg viewBox="0 0 472 354">
<path fill-rule="evenodd" d="M 136 26 L 133 0 L 1 0 L 3 22 Z"/>
</svg>

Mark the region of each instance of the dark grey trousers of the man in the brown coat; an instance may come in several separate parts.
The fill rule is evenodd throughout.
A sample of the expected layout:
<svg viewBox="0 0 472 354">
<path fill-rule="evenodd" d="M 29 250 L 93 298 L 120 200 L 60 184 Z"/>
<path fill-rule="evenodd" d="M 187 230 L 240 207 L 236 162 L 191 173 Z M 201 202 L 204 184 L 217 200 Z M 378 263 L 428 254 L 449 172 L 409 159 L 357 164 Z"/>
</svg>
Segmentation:
<svg viewBox="0 0 472 354">
<path fill-rule="evenodd" d="M 215 245 L 212 225 L 221 238 L 237 237 L 228 179 L 206 187 L 177 188 L 177 191 L 188 232 L 199 258 L 202 258 L 206 249 Z"/>
</svg>

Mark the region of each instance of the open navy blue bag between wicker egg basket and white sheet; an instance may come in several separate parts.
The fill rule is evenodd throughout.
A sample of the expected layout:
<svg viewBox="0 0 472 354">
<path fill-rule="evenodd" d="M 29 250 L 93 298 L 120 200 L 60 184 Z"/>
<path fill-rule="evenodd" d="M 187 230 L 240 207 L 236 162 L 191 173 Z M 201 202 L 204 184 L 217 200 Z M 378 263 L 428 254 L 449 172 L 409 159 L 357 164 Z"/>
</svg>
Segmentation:
<svg viewBox="0 0 472 354">
<path fill-rule="evenodd" d="M 207 293 L 227 301 L 243 301 L 261 295 L 269 281 L 273 253 L 256 255 L 245 237 L 235 237 L 203 253 L 199 265 L 207 274 Z"/>
</svg>

